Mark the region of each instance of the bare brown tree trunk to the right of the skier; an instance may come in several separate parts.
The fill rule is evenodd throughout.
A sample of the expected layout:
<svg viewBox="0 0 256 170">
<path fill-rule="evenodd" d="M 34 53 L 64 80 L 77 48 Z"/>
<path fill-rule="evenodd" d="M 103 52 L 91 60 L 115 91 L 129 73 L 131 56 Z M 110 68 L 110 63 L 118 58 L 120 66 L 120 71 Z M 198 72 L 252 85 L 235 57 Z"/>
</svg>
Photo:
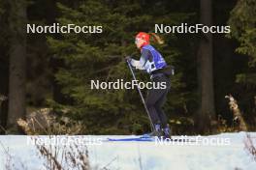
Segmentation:
<svg viewBox="0 0 256 170">
<path fill-rule="evenodd" d="M 211 25 L 211 0 L 201 0 L 201 23 Z M 212 71 L 212 35 L 202 33 L 200 41 L 198 60 L 199 68 L 199 88 L 201 105 L 196 117 L 197 126 L 200 132 L 210 130 L 210 120 L 215 119 L 214 91 L 213 91 L 213 71 Z"/>
</svg>

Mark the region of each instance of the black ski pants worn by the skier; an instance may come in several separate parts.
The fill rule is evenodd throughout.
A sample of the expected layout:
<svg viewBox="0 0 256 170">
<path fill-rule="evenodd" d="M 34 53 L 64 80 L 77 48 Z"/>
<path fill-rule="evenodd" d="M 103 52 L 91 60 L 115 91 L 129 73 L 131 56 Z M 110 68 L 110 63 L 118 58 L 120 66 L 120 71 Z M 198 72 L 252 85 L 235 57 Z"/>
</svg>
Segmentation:
<svg viewBox="0 0 256 170">
<path fill-rule="evenodd" d="M 167 127 L 167 117 L 162 106 L 166 101 L 167 94 L 171 88 L 171 79 L 165 74 L 160 74 L 152 78 L 155 83 L 154 89 L 149 89 L 145 99 L 145 104 L 149 112 L 149 116 L 154 125 L 160 124 L 162 128 Z M 166 88 L 159 88 L 161 82 L 166 82 Z"/>
</svg>

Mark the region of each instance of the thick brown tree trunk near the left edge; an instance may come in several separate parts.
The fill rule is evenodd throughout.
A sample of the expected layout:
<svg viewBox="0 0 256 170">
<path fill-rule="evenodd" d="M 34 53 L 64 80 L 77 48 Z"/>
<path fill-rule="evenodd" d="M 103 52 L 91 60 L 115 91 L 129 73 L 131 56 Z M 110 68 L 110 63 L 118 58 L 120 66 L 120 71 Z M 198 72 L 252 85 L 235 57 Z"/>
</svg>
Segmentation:
<svg viewBox="0 0 256 170">
<path fill-rule="evenodd" d="M 26 74 L 26 2 L 10 1 L 9 25 L 10 69 L 9 69 L 9 109 L 8 132 L 17 133 L 16 120 L 25 117 L 25 74 Z"/>
</svg>

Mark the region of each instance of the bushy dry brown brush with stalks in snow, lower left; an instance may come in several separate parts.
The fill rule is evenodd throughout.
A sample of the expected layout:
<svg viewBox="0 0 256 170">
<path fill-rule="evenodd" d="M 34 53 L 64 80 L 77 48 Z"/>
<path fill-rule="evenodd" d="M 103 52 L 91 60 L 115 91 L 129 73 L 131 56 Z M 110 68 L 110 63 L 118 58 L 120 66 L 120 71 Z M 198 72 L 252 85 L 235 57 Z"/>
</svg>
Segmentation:
<svg viewBox="0 0 256 170">
<path fill-rule="evenodd" d="M 39 156 L 44 160 L 47 170 L 89 170 L 88 152 L 85 145 L 38 144 L 38 134 L 48 135 L 48 141 L 56 134 L 79 134 L 82 130 L 80 122 L 67 117 L 57 120 L 50 110 L 41 109 L 30 114 L 26 120 L 18 119 L 17 124 L 26 134 L 32 136 Z M 68 136 L 66 138 L 68 140 Z"/>
</svg>

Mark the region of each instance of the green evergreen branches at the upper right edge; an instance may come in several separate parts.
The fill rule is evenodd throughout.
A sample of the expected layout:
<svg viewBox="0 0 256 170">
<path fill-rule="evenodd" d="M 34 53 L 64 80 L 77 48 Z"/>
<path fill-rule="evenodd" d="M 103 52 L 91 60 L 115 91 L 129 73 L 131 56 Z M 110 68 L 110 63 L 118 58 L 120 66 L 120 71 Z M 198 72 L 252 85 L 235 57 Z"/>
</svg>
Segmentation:
<svg viewBox="0 0 256 170">
<path fill-rule="evenodd" d="M 233 9 L 228 21 L 231 26 L 229 37 L 235 38 L 240 42 L 237 52 L 250 56 L 248 62 L 251 71 L 240 73 L 237 76 L 237 82 L 244 84 L 256 84 L 256 73 L 253 71 L 256 64 L 256 1 L 239 0 Z"/>
</svg>

